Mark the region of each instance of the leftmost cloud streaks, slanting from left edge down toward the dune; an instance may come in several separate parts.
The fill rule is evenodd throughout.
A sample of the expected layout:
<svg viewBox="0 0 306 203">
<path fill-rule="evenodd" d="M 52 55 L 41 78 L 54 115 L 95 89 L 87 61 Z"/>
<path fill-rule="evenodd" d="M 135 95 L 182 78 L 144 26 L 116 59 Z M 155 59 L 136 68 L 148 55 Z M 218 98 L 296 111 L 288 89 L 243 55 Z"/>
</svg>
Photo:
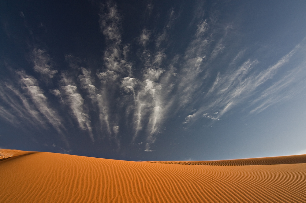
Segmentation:
<svg viewBox="0 0 306 203">
<path fill-rule="evenodd" d="M 16 73 L 20 84 L 19 87 L 4 83 L 0 88 L 1 99 L 9 108 L 9 111 L 2 108 L 1 116 L 13 125 L 24 122 L 24 125 L 31 124 L 33 127 L 46 130 L 51 125 L 61 135 L 66 147 L 69 148 L 69 143 L 65 136 L 67 131 L 62 124 L 62 118 L 50 106 L 48 98 L 39 87 L 38 81 L 24 71 L 16 71 Z"/>
</svg>

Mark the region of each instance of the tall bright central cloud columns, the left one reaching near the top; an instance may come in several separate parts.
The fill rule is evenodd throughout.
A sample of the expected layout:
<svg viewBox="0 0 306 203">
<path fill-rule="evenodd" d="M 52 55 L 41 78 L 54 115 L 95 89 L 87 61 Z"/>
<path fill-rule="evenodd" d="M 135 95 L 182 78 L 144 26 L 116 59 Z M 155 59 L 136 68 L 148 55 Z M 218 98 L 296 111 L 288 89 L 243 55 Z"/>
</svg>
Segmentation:
<svg viewBox="0 0 306 203">
<path fill-rule="evenodd" d="M 164 48 L 160 46 L 162 42 L 166 41 L 167 33 L 173 23 L 174 11 L 170 12 L 169 21 L 162 33 L 155 35 L 157 36 L 155 38 L 157 51 L 145 48 L 150 39 L 151 31 L 146 28 L 142 30 L 138 42 L 144 47 L 140 55 L 144 68 L 141 70 L 141 78 L 137 79 L 133 77 L 132 63 L 127 60 L 128 45 L 121 43 L 121 16 L 118 14 L 117 6 L 109 2 L 106 8 L 104 14 L 100 15 L 101 30 L 108 46 L 104 52 L 106 71 L 97 73 L 102 84 L 105 84 L 101 88 L 104 94 L 101 94 L 99 98 L 104 101 L 104 109 L 109 109 L 105 104 L 110 103 L 111 98 L 103 96 L 110 88 L 112 90 L 121 89 L 125 94 L 132 94 L 132 100 L 126 96 L 121 99 L 121 105 L 127 109 L 127 117 L 133 111 L 132 126 L 135 134 L 132 142 L 138 137 L 138 132 L 144 130 L 148 143 L 146 150 L 149 150 L 148 147 L 150 143 L 155 142 L 155 134 L 159 131 L 160 123 L 165 117 L 164 96 L 162 95 L 162 85 L 159 82 L 165 72 L 162 63 L 166 59 L 166 55 Z M 108 86 L 109 84 L 112 84 L 111 87 Z"/>
</svg>

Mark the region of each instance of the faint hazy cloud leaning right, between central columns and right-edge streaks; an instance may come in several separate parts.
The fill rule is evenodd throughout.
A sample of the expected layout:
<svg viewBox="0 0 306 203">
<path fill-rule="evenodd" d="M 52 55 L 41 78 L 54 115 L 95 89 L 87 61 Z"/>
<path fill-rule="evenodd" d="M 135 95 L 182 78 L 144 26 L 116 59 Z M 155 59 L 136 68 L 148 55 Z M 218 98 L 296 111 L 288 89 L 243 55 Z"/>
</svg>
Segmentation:
<svg viewBox="0 0 306 203">
<path fill-rule="evenodd" d="M 219 43 L 214 43 L 217 40 L 214 39 L 215 33 L 224 32 L 224 30 L 213 29 L 215 23 L 216 20 L 213 21 L 212 18 L 200 19 L 196 25 L 197 30 L 193 40 L 186 48 L 183 57 L 179 59 L 178 69 L 180 71 L 178 74 L 180 77 L 177 83 L 180 108 L 195 102 L 196 92 L 200 91 L 199 88 L 209 77 L 209 66 L 214 66 L 213 59 L 225 48 L 222 43 L 223 38 L 218 40 Z"/>
</svg>

